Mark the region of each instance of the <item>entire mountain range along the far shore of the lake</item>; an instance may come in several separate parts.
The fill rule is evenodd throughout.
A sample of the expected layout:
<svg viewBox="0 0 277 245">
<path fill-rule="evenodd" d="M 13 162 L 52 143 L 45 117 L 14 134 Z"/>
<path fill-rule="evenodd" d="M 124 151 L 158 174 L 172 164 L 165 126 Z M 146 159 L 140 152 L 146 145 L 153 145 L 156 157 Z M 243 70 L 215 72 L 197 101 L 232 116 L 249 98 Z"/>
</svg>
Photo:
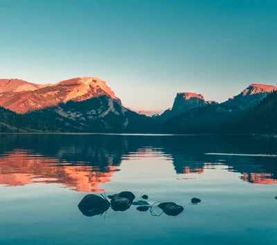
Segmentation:
<svg viewBox="0 0 277 245">
<path fill-rule="evenodd" d="M 226 102 L 206 101 L 197 93 L 177 93 L 172 109 L 145 116 L 123 107 L 100 78 L 73 78 L 56 84 L 0 80 L 0 130 L 46 132 L 221 133 L 235 132 L 244 115 L 273 105 L 277 87 L 250 84 Z M 274 93 L 273 93 L 274 92 Z M 267 114 L 273 114 L 268 108 Z M 276 107 L 270 107 L 275 111 Z M 239 119 L 241 118 L 241 119 Z M 267 117 L 266 117 L 267 118 Z M 271 116 L 272 118 L 272 116 Z M 276 118 L 277 119 L 277 118 Z M 230 123 L 232 122 L 232 123 Z M 267 122 L 264 122 L 264 124 Z M 251 127 L 250 132 L 257 131 Z M 249 127 L 250 128 L 250 127 Z M 262 127 L 267 133 L 275 127 Z M 270 130 L 269 130 L 270 129 Z M 247 131 L 247 130 L 245 130 Z"/>
</svg>

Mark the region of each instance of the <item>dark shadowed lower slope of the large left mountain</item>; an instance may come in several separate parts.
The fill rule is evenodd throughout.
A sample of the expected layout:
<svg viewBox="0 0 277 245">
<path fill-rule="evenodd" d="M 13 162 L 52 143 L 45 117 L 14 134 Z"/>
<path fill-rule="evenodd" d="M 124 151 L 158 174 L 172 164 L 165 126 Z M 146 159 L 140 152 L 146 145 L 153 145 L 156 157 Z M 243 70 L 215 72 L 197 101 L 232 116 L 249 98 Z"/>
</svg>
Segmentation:
<svg viewBox="0 0 277 245">
<path fill-rule="evenodd" d="M 145 132 L 152 127 L 151 118 L 125 109 L 110 96 L 70 100 L 26 115 L 65 132 Z"/>
</svg>

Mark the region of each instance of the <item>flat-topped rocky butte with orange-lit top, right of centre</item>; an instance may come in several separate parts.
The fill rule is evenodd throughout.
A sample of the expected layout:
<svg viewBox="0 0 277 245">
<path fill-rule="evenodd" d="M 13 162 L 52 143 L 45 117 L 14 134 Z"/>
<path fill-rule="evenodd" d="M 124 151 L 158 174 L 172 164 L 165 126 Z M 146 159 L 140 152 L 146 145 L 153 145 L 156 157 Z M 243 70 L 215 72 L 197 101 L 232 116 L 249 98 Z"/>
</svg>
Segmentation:
<svg viewBox="0 0 277 245">
<path fill-rule="evenodd" d="M 197 93 L 177 93 L 175 98 L 172 113 L 173 114 L 182 114 L 185 111 L 194 109 L 197 107 L 204 107 L 205 100 L 201 94 Z"/>
</svg>

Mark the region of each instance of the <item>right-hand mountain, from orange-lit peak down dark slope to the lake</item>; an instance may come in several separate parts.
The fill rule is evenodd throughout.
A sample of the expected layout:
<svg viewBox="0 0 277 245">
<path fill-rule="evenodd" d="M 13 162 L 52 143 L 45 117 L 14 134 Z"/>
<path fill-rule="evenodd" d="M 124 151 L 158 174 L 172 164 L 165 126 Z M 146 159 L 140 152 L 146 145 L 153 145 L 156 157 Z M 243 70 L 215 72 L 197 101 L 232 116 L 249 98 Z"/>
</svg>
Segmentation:
<svg viewBox="0 0 277 245">
<path fill-rule="evenodd" d="M 235 125 L 238 125 L 238 121 L 246 120 L 244 116 L 242 118 L 240 116 L 244 115 L 247 109 L 255 107 L 263 98 L 267 98 L 276 89 L 277 87 L 271 85 L 250 84 L 242 93 L 233 96 L 226 102 L 190 109 L 183 114 L 168 118 L 168 120 L 161 122 L 160 129 L 162 132 L 170 134 L 240 131 L 235 129 Z M 233 123 L 228 123 L 229 120 L 232 120 Z M 249 120 L 246 121 L 249 122 Z M 224 126 L 225 124 L 226 126 Z"/>
</svg>

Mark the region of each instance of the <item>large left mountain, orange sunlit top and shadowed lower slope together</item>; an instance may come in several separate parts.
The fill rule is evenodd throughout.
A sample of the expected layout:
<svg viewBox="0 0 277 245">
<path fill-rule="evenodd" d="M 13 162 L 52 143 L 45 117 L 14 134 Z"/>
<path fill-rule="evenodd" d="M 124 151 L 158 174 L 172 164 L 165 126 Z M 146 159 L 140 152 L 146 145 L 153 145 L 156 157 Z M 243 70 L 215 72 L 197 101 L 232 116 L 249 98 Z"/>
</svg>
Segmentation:
<svg viewBox="0 0 277 245">
<path fill-rule="evenodd" d="M 14 84 L 12 89 L 21 84 Z M 39 124 L 44 122 L 42 131 L 141 132 L 152 127 L 151 118 L 123 107 L 114 91 L 99 78 L 73 78 L 31 89 L 8 91 L 6 88 L 1 93 L 0 105 L 9 109 L 10 114 L 12 111 L 24 114 L 20 120 L 32 118 Z"/>
</svg>

